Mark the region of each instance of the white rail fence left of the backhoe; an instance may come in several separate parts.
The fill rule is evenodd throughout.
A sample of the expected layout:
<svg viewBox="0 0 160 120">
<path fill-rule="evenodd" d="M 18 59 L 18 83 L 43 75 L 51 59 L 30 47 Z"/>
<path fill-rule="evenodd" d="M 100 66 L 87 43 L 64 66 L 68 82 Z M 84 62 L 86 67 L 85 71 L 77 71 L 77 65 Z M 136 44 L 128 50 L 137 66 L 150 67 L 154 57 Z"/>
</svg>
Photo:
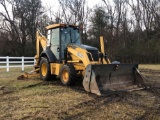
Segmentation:
<svg viewBox="0 0 160 120">
<path fill-rule="evenodd" d="M 28 61 L 26 61 L 28 60 Z M 13 67 L 21 67 L 22 71 L 24 71 L 24 67 L 26 66 L 34 66 L 35 64 L 34 57 L 1 57 L 0 56 L 0 69 L 6 68 L 7 72 L 9 72 L 9 68 Z"/>
</svg>

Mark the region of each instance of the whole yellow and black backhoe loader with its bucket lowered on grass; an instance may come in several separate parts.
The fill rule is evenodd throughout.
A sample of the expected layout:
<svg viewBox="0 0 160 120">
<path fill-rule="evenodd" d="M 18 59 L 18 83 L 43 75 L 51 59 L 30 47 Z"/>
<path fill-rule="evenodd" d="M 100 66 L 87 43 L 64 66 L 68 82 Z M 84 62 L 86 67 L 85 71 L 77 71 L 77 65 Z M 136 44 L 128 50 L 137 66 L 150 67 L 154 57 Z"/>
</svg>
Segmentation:
<svg viewBox="0 0 160 120">
<path fill-rule="evenodd" d="M 73 85 L 83 78 L 87 92 L 106 95 L 114 91 L 142 89 L 144 80 L 138 64 L 112 64 L 105 54 L 103 36 L 100 48 L 81 43 L 79 29 L 74 25 L 52 24 L 46 27 L 47 37 L 37 31 L 35 74 L 42 80 L 60 77 L 62 84 Z M 40 53 L 40 44 L 43 51 Z M 25 73 L 23 77 L 33 76 Z M 19 76 L 21 78 L 22 76 Z"/>
</svg>

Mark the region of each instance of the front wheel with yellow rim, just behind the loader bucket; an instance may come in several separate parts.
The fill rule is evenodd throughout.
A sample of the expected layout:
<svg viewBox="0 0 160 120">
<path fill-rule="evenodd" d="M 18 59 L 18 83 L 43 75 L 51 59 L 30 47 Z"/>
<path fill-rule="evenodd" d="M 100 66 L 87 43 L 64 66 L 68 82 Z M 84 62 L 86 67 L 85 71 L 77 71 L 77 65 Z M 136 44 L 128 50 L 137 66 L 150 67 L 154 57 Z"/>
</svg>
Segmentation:
<svg viewBox="0 0 160 120">
<path fill-rule="evenodd" d="M 72 64 L 62 66 L 60 71 L 60 79 L 63 85 L 73 85 L 76 80 L 76 76 L 76 70 Z"/>
</svg>

